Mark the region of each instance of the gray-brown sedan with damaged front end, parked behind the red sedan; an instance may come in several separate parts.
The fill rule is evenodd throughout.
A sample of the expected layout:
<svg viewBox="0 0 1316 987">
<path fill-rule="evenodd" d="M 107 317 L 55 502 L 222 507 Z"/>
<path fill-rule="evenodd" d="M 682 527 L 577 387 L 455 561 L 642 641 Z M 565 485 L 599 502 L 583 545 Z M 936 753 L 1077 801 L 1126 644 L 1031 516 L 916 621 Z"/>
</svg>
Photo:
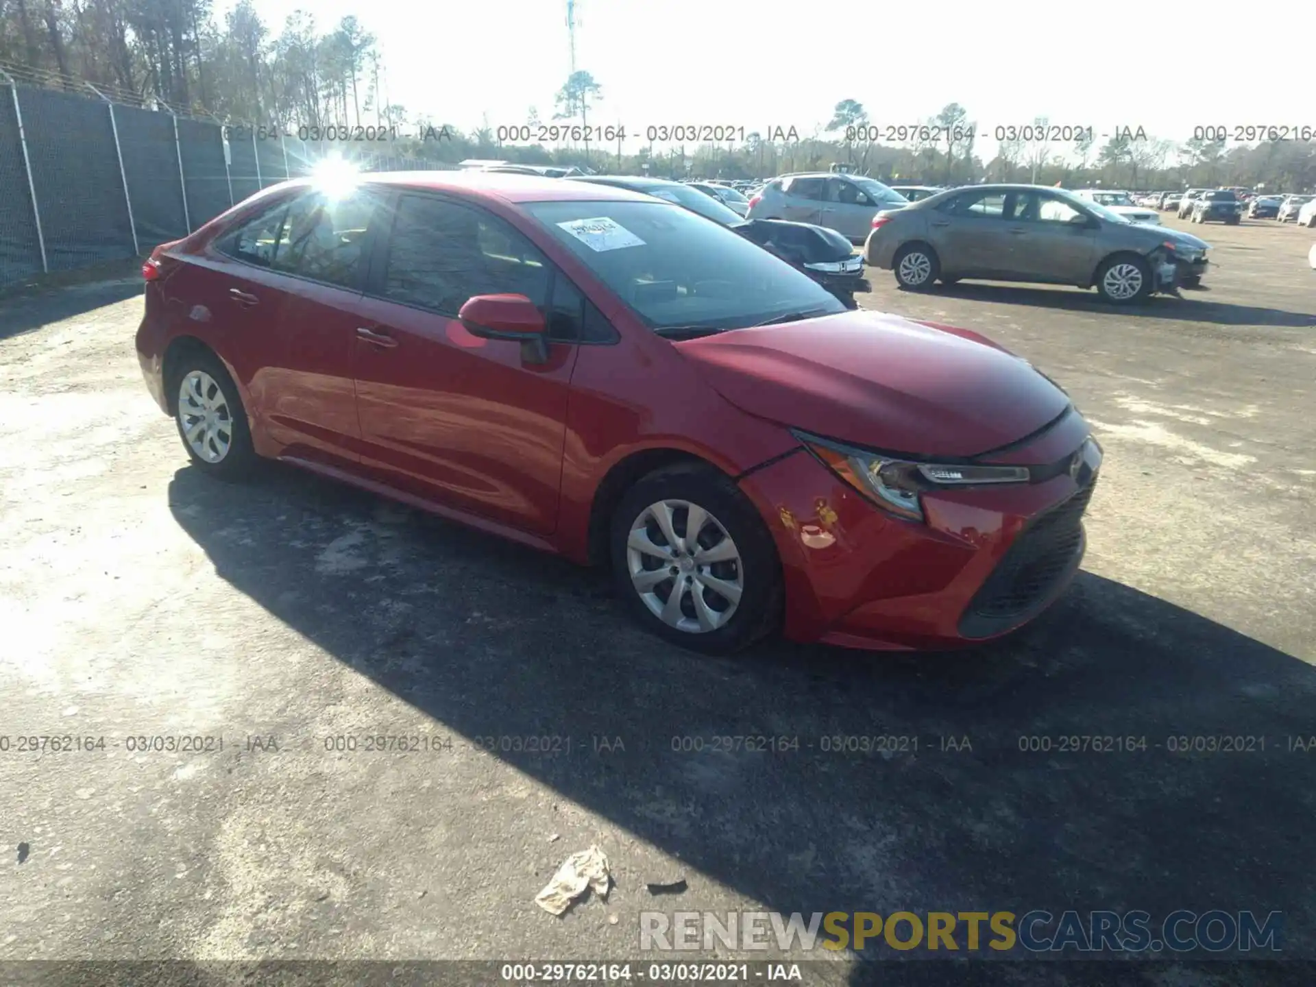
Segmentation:
<svg viewBox="0 0 1316 987">
<path fill-rule="evenodd" d="M 901 288 L 961 278 L 1095 287 L 1119 304 L 1195 287 L 1207 243 L 1045 186 L 970 186 L 879 213 L 863 246 Z"/>
</svg>

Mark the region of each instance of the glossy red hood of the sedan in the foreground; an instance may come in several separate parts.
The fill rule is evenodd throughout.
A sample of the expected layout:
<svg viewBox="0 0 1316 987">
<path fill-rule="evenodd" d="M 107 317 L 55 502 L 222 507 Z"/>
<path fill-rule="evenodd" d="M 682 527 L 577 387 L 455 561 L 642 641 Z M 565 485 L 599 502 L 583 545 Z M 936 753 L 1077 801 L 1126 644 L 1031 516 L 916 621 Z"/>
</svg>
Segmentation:
<svg viewBox="0 0 1316 987">
<path fill-rule="evenodd" d="M 880 312 L 734 329 L 674 346 L 750 415 L 871 449 L 971 457 L 1030 436 L 1069 397 L 976 333 Z"/>
</svg>

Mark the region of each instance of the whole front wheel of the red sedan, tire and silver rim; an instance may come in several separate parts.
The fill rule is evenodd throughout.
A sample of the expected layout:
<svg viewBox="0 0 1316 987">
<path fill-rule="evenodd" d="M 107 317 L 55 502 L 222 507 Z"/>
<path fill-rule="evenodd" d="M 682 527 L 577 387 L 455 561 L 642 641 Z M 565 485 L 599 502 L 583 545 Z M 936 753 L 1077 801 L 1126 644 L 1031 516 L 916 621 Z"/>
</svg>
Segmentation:
<svg viewBox="0 0 1316 987">
<path fill-rule="evenodd" d="M 703 654 L 732 654 L 782 617 L 782 567 L 758 511 L 708 466 L 651 472 L 612 516 L 612 578 L 632 616 Z"/>
</svg>

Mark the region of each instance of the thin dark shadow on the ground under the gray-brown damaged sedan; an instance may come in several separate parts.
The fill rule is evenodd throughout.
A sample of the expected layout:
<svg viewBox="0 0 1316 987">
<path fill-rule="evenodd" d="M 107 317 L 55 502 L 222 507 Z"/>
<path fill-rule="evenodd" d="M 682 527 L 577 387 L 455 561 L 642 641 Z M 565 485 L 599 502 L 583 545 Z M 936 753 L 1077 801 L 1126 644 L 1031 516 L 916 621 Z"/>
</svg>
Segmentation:
<svg viewBox="0 0 1316 987">
<path fill-rule="evenodd" d="M 937 284 L 928 291 L 917 293 L 930 297 L 961 299 L 965 301 L 1062 308 L 1070 312 L 1087 312 L 1117 318 L 1141 316 L 1144 318 L 1171 318 L 1183 322 L 1212 322 L 1215 325 L 1316 328 L 1316 315 L 1212 301 L 1209 287 L 1198 291 L 1186 288 L 1182 292 L 1182 297 L 1158 295 L 1138 305 L 1112 305 L 1101 301 L 1095 292 L 1080 292 L 1071 288 L 1024 288 L 978 282 Z"/>
</svg>

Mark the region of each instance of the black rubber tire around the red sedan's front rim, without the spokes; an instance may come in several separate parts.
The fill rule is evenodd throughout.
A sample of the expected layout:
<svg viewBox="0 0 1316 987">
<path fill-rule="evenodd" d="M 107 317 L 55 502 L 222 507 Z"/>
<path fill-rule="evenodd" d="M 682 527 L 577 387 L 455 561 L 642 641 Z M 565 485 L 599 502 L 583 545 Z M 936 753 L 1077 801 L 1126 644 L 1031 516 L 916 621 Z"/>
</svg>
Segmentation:
<svg viewBox="0 0 1316 987">
<path fill-rule="evenodd" d="M 738 578 L 742 584 L 741 597 L 732 616 L 726 619 L 725 624 L 712 630 L 682 629 L 665 622 L 641 599 L 640 590 L 632 582 L 628 549 L 632 525 L 651 505 L 672 500 L 701 507 L 716 522 L 705 525 L 703 530 L 716 536 L 720 533 L 716 528 L 720 526 L 740 553 L 738 562 L 719 562 L 704 567 L 709 570 L 705 575 L 722 580 Z M 684 508 L 674 511 L 672 530 L 680 538 L 688 537 L 686 530 L 688 517 L 688 511 Z M 666 541 L 655 524 L 650 522 L 649 530 L 653 532 L 650 540 L 655 544 Z M 716 544 L 713 542 L 713 545 Z M 758 511 L 736 487 L 736 483 L 711 466 L 680 463 L 657 470 L 637 480 L 612 513 L 608 554 L 612 562 L 613 590 L 632 617 L 651 633 L 679 647 L 700 654 L 733 654 L 772 633 L 780 625 L 784 588 L 782 565 L 776 555 L 776 546 L 772 544 L 772 536 Z M 641 558 L 653 557 L 641 555 Z M 661 572 L 665 567 L 667 567 L 666 563 L 658 565 L 655 569 L 645 567 L 645 571 Z M 675 579 L 690 578 L 682 575 L 679 565 L 672 567 L 678 570 Z M 655 604 L 669 601 L 676 586 L 674 579 L 655 584 L 650 594 Z M 679 597 L 682 619 L 684 620 L 695 621 L 697 619 L 692 592 L 699 592 L 705 605 L 715 611 L 719 607 L 724 613 L 729 609 L 725 605 L 726 597 L 719 596 L 716 591 L 697 587 L 687 588 Z"/>
</svg>

